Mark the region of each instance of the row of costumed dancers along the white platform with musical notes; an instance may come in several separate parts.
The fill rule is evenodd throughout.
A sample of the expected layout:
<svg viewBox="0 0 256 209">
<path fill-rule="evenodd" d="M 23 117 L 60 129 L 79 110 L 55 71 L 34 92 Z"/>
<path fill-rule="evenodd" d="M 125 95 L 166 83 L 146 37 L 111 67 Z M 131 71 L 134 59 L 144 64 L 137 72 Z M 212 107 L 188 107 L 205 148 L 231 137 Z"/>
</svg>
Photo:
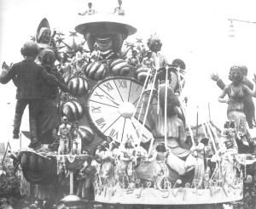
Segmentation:
<svg viewBox="0 0 256 209">
<path fill-rule="evenodd" d="M 213 173 L 215 170 L 218 170 L 218 166 L 226 167 L 229 164 L 231 167 L 230 171 L 233 171 L 230 173 L 230 176 L 233 177 L 230 181 L 236 181 L 237 176 L 234 174 L 236 172 L 234 172 L 233 163 L 234 156 L 237 154 L 236 138 L 238 135 L 235 123 L 227 121 L 224 125 L 220 144 L 218 144 L 218 151 L 214 153 L 212 141 L 209 138 L 195 140 L 195 147 L 190 150 L 191 157 L 189 156 L 189 159 L 183 163 L 186 171 L 183 171 L 182 163 L 180 166 L 175 166 L 175 162 L 171 162 L 172 169 L 175 171 L 173 173 L 170 173 L 168 166 L 170 161 L 177 160 L 177 157 L 173 155 L 172 150 L 164 142 L 158 143 L 153 150 L 148 152 L 148 150 L 145 150 L 140 144 L 136 144 L 132 139 L 128 139 L 122 144 L 114 141 L 113 138 L 107 137 L 101 144 L 98 144 L 94 155 L 91 156 L 90 164 L 87 163 L 86 167 L 90 168 L 90 171 L 88 171 L 90 175 L 92 175 L 91 171 L 94 171 L 94 178 L 90 176 L 90 181 L 92 179 L 96 181 L 95 185 L 99 188 L 102 185 L 113 186 L 113 184 L 119 184 L 124 189 L 132 189 L 132 187 L 136 187 L 135 184 L 147 184 L 148 187 L 162 189 L 159 181 L 165 176 L 171 177 L 170 179 L 176 178 L 177 184 L 184 185 L 181 179 L 187 179 L 186 173 L 189 174 L 189 171 L 192 172 L 195 168 L 200 174 L 197 176 L 199 179 L 196 179 L 198 180 L 197 184 L 200 184 L 201 188 L 209 189 L 211 179 L 214 178 Z M 187 140 L 187 143 L 191 145 L 189 137 Z M 193 159 L 196 159 L 196 162 Z M 180 161 L 178 162 L 180 163 Z M 111 172 L 111 167 L 114 167 L 116 170 L 115 174 Z M 81 172 L 85 173 L 85 170 L 82 169 Z M 179 178 L 177 178 L 175 173 L 178 174 Z M 220 176 L 221 173 L 216 175 Z M 239 178 L 242 178 L 242 175 L 240 173 Z M 176 184 L 173 180 L 171 180 L 171 183 Z M 194 182 L 194 184 L 196 183 Z"/>
</svg>

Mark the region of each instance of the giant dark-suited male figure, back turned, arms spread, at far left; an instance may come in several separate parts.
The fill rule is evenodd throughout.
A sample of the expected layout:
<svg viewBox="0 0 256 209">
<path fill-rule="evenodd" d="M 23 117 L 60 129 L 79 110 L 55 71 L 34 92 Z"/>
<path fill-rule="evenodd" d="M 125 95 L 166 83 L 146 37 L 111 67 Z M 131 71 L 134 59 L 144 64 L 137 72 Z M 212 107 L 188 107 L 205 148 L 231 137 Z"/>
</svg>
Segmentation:
<svg viewBox="0 0 256 209">
<path fill-rule="evenodd" d="M 26 42 L 20 49 L 24 57 L 19 63 L 12 65 L 7 70 L 4 69 L 0 82 L 5 84 L 11 79 L 14 80 L 17 87 L 16 107 L 15 107 L 15 123 L 14 123 L 14 138 L 19 138 L 20 123 L 26 105 L 29 105 L 29 124 L 31 134 L 31 144 L 29 147 L 35 148 L 40 143 L 38 142 L 37 132 L 37 116 L 38 110 L 42 101 L 42 91 L 39 83 L 50 82 L 58 83 L 55 76 L 49 75 L 47 71 L 40 65 L 37 65 L 34 60 L 38 56 L 38 45 L 35 42 Z"/>
</svg>

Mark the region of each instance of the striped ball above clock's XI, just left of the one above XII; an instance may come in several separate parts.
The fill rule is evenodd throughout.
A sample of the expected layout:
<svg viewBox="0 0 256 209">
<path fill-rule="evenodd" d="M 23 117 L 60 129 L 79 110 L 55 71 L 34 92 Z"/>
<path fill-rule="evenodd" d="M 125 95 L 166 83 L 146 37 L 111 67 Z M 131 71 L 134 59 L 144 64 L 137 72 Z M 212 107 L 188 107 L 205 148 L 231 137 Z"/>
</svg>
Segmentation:
<svg viewBox="0 0 256 209">
<path fill-rule="evenodd" d="M 103 64 L 100 61 L 94 61 L 87 65 L 84 74 L 92 80 L 99 81 L 107 76 L 107 69 L 108 67 L 106 64 Z"/>
</svg>

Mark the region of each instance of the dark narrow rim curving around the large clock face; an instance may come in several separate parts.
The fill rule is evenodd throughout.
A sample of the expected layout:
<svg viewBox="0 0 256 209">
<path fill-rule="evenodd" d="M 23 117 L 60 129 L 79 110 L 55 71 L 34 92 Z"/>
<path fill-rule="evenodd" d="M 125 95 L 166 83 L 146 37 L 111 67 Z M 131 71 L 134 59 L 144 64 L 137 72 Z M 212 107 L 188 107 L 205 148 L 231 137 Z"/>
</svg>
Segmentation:
<svg viewBox="0 0 256 209">
<path fill-rule="evenodd" d="M 101 81 L 96 82 L 92 88 L 90 88 L 90 91 L 88 93 L 88 97 L 86 99 L 86 105 L 85 105 L 85 114 L 87 117 L 87 121 L 90 124 L 90 127 L 93 129 L 93 131 L 96 132 L 96 134 L 101 137 L 101 138 L 106 138 L 108 137 L 107 135 L 105 135 L 104 133 L 102 133 L 102 131 L 96 126 L 95 122 L 93 121 L 92 117 L 90 116 L 90 110 L 89 110 L 89 99 L 91 94 L 94 92 L 94 90 L 101 85 L 103 82 L 108 82 L 109 80 L 113 80 L 113 79 L 126 79 L 126 80 L 130 80 L 131 82 L 136 82 L 137 84 L 141 85 L 143 87 L 143 82 L 137 81 L 136 79 L 129 77 L 129 76 L 108 76 L 106 78 L 104 78 Z M 147 128 L 149 132 L 151 132 L 151 130 L 148 127 L 144 127 Z"/>
</svg>

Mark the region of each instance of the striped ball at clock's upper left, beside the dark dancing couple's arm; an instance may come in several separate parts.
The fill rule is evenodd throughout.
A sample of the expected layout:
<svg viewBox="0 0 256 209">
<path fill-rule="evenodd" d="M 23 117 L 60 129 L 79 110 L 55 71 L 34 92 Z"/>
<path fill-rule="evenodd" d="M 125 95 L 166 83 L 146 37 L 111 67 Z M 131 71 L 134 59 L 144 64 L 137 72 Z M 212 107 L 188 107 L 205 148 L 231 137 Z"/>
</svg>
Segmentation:
<svg viewBox="0 0 256 209">
<path fill-rule="evenodd" d="M 82 77 L 73 77 L 68 82 L 68 89 L 74 96 L 83 96 L 88 93 L 88 82 Z"/>
</svg>

